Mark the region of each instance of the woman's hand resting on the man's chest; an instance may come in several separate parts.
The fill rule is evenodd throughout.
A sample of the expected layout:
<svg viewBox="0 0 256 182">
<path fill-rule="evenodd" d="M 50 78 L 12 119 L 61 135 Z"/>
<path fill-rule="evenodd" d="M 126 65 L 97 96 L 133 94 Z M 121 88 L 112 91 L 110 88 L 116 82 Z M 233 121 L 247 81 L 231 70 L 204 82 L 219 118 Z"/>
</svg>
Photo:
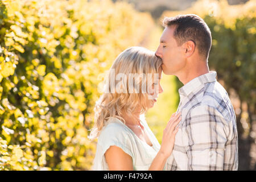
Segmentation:
<svg viewBox="0 0 256 182">
<path fill-rule="evenodd" d="M 163 131 L 163 139 L 159 151 L 162 152 L 164 158 L 168 158 L 172 154 L 175 142 L 175 135 L 179 129 L 179 127 L 176 126 L 180 121 L 181 113 L 178 113 L 177 115 L 175 115 L 175 113 L 172 114 L 166 128 Z"/>
</svg>

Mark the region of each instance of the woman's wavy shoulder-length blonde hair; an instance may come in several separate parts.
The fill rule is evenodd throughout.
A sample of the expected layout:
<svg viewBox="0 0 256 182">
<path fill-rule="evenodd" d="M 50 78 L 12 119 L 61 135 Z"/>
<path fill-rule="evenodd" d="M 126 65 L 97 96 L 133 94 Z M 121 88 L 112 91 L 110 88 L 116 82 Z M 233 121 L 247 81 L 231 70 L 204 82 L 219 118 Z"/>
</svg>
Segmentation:
<svg viewBox="0 0 256 182">
<path fill-rule="evenodd" d="M 118 118 L 125 123 L 121 111 L 132 115 L 136 107 L 141 106 L 141 114 L 144 113 L 149 102 L 152 102 L 148 100 L 148 93 L 142 92 L 142 85 L 148 84 L 148 78 L 137 76 L 134 84 L 130 84 L 128 77 L 130 74 L 158 74 L 161 65 L 162 60 L 156 57 L 153 51 L 143 47 L 130 47 L 121 52 L 105 77 L 105 90 L 94 107 L 94 127 L 88 138 L 97 138 L 110 117 Z M 123 74 L 121 81 L 116 82 L 113 71 L 114 77 L 119 73 Z"/>
</svg>

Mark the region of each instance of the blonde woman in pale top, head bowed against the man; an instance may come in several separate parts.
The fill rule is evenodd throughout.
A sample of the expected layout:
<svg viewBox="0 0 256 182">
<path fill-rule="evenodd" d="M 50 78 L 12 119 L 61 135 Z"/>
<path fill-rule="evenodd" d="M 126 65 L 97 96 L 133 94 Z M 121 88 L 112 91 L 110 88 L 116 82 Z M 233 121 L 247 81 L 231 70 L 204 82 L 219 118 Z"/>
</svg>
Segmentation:
<svg viewBox="0 0 256 182">
<path fill-rule="evenodd" d="M 142 47 L 128 48 L 114 61 L 94 108 L 90 138 L 98 137 L 98 143 L 92 170 L 165 169 L 180 114 L 172 114 L 161 146 L 143 115 L 163 92 L 161 65 L 154 52 Z"/>
</svg>

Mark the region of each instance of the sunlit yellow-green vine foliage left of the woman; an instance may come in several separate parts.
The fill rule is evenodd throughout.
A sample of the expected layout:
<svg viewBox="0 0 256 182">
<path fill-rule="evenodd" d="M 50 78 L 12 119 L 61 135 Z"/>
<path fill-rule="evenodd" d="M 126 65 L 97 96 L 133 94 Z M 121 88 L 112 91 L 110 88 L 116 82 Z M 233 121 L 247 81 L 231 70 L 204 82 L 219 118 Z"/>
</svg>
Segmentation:
<svg viewBox="0 0 256 182">
<path fill-rule="evenodd" d="M 0 0 L 0 169 L 90 169 L 100 73 L 153 24 L 124 2 Z"/>
</svg>

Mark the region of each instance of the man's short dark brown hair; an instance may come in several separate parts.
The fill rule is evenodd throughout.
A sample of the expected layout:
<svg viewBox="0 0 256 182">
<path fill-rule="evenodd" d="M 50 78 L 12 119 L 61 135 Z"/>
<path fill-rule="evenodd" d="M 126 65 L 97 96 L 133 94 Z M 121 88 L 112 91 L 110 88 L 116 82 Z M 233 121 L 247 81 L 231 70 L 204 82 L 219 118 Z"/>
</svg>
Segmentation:
<svg viewBox="0 0 256 182">
<path fill-rule="evenodd" d="M 174 38 L 178 44 L 192 40 L 199 53 L 208 59 L 210 47 L 212 46 L 212 35 L 207 24 L 195 14 L 177 15 L 165 17 L 163 26 L 175 26 Z"/>
</svg>

